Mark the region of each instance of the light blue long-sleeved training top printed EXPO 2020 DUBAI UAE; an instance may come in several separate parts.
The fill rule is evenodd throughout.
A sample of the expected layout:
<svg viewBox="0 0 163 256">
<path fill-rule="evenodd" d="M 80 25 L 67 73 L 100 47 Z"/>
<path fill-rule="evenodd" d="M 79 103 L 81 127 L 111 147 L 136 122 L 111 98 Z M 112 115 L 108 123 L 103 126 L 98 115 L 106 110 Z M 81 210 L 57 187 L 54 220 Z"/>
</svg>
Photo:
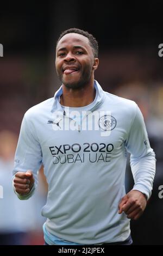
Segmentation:
<svg viewBox="0 0 163 256">
<path fill-rule="evenodd" d="M 104 92 L 97 81 L 94 85 L 96 97 L 83 113 L 82 123 L 73 109 L 60 105 L 62 87 L 54 98 L 26 112 L 13 170 L 13 174 L 33 170 L 33 189 L 26 196 L 17 194 L 28 199 L 43 164 L 48 195 L 42 215 L 47 218 L 47 232 L 85 245 L 124 241 L 130 235 L 129 219 L 124 212 L 118 214 L 118 204 L 126 194 L 126 152 L 130 153 L 133 189 L 147 199 L 155 175 L 155 154 L 139 107 Z"/>
</svg>

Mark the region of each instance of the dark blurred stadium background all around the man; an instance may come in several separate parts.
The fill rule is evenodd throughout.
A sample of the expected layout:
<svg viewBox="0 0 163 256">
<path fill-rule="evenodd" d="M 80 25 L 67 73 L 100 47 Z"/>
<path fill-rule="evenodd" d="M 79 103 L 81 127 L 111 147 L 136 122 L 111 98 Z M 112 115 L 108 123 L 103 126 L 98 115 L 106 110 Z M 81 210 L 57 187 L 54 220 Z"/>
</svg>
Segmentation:
<svg viewBox="0 0 163 256">
<path fill-rule="evenodd" d="M 104 90 L 136 101 L 156 153 L 153 194 L 140 218 L 131 221 L 136 245 L 163 245 L 163 43 L 162 1 L 15 1 L 0 4 L 0 245 L 43 243 L 41 207 L 47 185 L 43 170 L 35 196 L 18 200 L 11 188 L 11 169 L 24 113 L 53 97 L 60 82 L 55 73 L 55 41 L 67 28 L 92 33 L 99 42 L 96 80 Z M 133 186 L 129 164 L 126 189 Z M 14 235 L 14 236 L 13 236 Z M 14 237 L 14 239 L 13 239 Z M 7 241 L 8 240 L 8 241 Z"/>
</svg>

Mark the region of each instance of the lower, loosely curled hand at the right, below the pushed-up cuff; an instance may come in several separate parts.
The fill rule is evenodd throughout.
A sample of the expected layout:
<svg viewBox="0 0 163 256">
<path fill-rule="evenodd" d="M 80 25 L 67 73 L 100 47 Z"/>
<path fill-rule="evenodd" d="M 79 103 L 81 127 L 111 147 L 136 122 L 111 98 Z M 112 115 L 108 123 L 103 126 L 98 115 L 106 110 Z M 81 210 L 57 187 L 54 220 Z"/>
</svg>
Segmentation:
<svg viewBox="0 0 163 256">
<path fill-rule="evenodd" d="M 145 210 L 147 199 L 145 194 L 138 190 L 131 190 L 126 194 L 118 205 L 118 214 L 124 213 L 127 218 L 137 220 Z"/>
</svg>

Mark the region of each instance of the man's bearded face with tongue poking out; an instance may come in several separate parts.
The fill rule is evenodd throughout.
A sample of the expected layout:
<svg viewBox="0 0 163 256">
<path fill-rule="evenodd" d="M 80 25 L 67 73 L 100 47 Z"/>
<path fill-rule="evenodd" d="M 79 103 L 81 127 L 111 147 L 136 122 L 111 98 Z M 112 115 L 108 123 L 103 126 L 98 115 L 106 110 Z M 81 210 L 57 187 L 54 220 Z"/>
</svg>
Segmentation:
<svg viewBox="0 0 163 256">
<path fill-rule="evenodd" d="M 92 80 L 98 58 L 93 56 L 86 36 L 69 33 L 58 42 L 55 66 L 59 79 L 66 87 L 79 88 Z"/>
</svg>

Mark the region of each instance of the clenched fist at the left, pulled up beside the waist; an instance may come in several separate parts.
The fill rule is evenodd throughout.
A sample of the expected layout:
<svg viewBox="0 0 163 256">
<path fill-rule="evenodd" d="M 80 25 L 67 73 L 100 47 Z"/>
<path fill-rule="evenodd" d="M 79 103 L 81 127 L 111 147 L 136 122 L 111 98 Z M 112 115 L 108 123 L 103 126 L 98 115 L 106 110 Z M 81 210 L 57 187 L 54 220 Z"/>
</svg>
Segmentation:
<svg viewBox="0 0 163 256">
<path fill-rule="evenodd" d="M 24 172 L 17 172 L 14 178 L 15 191 L 21 196 L 28 194 L 35 182 L 33 173 L 31 170 Z"/>
</svg>

